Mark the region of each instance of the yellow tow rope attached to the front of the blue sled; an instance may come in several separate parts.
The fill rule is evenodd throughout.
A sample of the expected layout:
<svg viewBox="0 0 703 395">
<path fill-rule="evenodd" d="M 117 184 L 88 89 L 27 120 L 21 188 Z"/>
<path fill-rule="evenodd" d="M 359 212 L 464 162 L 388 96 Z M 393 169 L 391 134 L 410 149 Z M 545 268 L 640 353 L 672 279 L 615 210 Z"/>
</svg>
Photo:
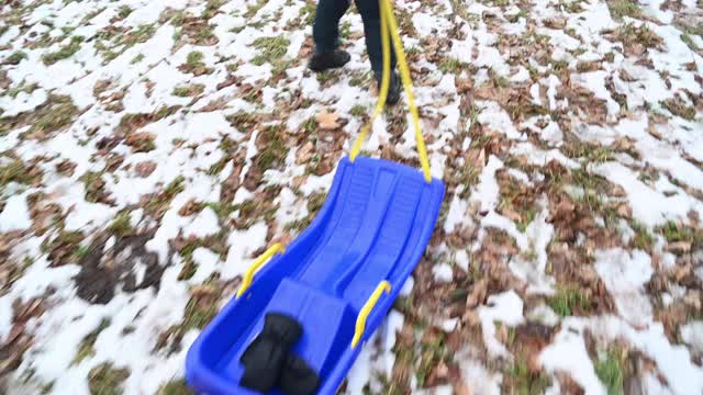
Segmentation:
<svg viewBox="0 0 703 395">
<path fill-rule="evenodd" d="M 371 115 L 369 123 L 361 128 L 359 136 L 352 146 L 352 153 L 349 154 L 349 160 L 354 162 L 356 157 L 361 150 L 361 144 L 366 139 L 369 129 L 373 125 L 373 121 L 381 114 L 386 106 L 386 98 L 388 97 L 388 89 L 390 87 L 391 78 L 391 48 L 390 41 L 393 42 L 395 49 L 395 57 L 398 60 L 398 69 L 400 70 L 401 81 L 403 82 L 403 89 L 408 97 L 408 108 L 410 109 L 410 115 L 413 120 L 413 126 L 415 128 L 415 142 L 417 144 L 417 155 L 420 156 L 420 165 L 422 166 L 422 172 L 425 177 L 425 181 L 432 181 L 432 173 L 429 172 L 429 160 L 427 159 L 427 148 L 425 147 L 425 140 L 422 137 L 422 127 L 420 126 L 420 115 L 417 115 L 417 108 L 415 106 L 415 97 L 413 95 L 413 82 L 410 77 L 410 69 L 408 68 L 408 61 L 405 60 L 405 50 L 403 43 L 398 34 L 398 22 L 393 15 L 392 5 L 390 0 L 379 0 L 380 14 L 381 14 L 381 47 L 383 49 L 383 75 L 381 76 L 381 89 L 378 95 L 378 102 Z"/>
</svg>

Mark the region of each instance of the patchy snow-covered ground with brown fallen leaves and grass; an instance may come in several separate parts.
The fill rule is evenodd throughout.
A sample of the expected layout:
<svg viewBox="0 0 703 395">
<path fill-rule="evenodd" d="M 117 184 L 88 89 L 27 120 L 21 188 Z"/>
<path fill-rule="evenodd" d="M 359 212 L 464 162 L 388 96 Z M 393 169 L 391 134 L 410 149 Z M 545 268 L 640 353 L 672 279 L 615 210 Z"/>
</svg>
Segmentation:
<svg viewBox="0 0 703 395">
<path fill-rule="evenodd" d="M 425 258 L 343 392 L 703 393 L 703 4 L 395 1 Z M 312 219 L 375 93 L 312 1 L 0 5 L 0 392 L 187 393 L 253 257 Z M 365 149 L 416 163 L 404 109 Z M 411 286 L 412 285 L 412 286 Z"/>
</svg>

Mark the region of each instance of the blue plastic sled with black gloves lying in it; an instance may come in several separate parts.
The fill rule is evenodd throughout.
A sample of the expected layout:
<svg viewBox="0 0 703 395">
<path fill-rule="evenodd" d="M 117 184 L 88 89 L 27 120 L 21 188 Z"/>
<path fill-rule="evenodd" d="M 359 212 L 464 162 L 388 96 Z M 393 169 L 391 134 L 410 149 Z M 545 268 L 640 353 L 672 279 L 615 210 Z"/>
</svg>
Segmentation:
<svg viewBox="0 0 703 395">
<path fill-rule="evenodd" d="M 186 379 L 207 394 L 256 394 L 239 386 L 239 358 L 264 326 L 267 312 L 295 317 L 303 335 L 292 351 L 320 376 L 320 394 L 334 394 L 390 309 L 432 236 L 444 184 L 382 159 L 343 158 L 327 199 L 312 224 L 257 272 L 188 352 Z M 362 306 L 382 281 L 361 342 L 352 347 Z M 271 394 L 279 394 L 278 391 Z"/>
</svg>

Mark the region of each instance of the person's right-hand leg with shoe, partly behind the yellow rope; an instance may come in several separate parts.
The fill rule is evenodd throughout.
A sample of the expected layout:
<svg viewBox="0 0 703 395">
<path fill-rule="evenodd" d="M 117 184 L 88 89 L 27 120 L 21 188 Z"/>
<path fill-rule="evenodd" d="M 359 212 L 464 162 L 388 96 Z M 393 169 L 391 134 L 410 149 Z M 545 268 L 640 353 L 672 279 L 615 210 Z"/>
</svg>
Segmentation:
<svg viewBox="0 0 703 395">
<path fill-rule="evenodd" d="M 378 87 L 381 86 L 383 75 L 383 49 L 381 47 L 381 13 L 378 0 L 356 0 L 356 7 L 359 9 L 361 20 L 364 21 L 364 33 L 366 36 L 366 50 L 369 54 L 371 69 Z M 387 34 L 383 32 L 383 34 Z M 390 37 L 389 37 L 390 41 Z M 391 45 L 391 84 L 388 91 L 387 102 L 395 104 L 400 100 L 402 86 L 400 78 L 395 74 L 395 52 Z"/>
</svg>

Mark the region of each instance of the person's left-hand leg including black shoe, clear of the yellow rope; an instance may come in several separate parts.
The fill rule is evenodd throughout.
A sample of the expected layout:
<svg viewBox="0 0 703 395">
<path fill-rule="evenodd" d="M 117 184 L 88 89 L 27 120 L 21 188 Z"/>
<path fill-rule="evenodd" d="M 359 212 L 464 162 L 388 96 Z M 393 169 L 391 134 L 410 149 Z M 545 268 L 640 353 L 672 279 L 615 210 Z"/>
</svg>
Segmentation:
<svg viewBox="0 0 703 395">
<path fill-rule="evenodd" d="M 312 26 L 315 53 L 310 59 L 313 71 L 338 68 L 349 61 L 350 56 L 339 46 L 339 20 L 349 8 L 349 0 L 320 0 Z"/>
</svg>

